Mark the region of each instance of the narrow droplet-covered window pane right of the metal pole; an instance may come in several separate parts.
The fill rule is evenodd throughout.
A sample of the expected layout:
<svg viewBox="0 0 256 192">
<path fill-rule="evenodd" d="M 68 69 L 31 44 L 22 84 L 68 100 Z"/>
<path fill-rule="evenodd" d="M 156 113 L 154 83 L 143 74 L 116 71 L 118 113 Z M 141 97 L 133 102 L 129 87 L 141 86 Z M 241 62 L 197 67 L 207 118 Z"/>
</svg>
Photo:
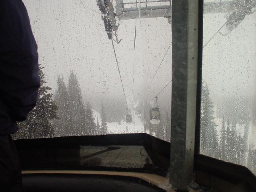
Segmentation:
<svg viewBox="0 0 256 192">
<path fill-rule="evenodd" d="M 204 2 L 200 153 L 256 174 L 256 2 Z"/>
</svg>

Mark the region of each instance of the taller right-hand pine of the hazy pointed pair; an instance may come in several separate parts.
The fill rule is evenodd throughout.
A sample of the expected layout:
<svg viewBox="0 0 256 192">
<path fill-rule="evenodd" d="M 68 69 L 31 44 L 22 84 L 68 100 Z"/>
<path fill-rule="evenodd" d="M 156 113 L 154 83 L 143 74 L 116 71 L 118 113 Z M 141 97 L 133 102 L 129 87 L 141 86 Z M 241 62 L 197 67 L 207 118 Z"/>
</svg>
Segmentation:
<svg viewBox="0 0 256 192">
<path fill-rule="evenodd" d="M 80 84 L 76 74 L 72 70 L 68 79 L 68 94 L 70 104 L 70 121 L 72 123 L 72 135 L 90 134 L 86 130 L 86 108 L 82 101 Z M 85 131 L 84 131 L 85 130 Z"/>
</svg>

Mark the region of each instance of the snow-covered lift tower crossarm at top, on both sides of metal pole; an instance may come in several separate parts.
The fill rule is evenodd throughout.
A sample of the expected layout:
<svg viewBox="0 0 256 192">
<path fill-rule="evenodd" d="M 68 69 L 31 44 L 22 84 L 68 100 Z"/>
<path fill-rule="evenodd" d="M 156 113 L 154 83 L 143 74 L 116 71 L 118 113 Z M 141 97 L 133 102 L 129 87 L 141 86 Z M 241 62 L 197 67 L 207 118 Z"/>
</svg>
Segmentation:
<svg viewBox="0 0 256 192">
<path fill-rule="evenodd" d="M 118 40 L 117 20 L 129 20 L 140 18 L 167 18 L 168 23 L 172 23 L 172 0 L 96 0 L 98 8 L 102 13 L 105 30 L 108 38 L 115 36 Z M 235 29 L 244 17 L 254 12 L 256 0 L 220 0 L 219 2 L 205 2 L 204 14 L 208 13 L 228 13 L 226 17 L 226 27 L 229 31 Z"/>
</svg>

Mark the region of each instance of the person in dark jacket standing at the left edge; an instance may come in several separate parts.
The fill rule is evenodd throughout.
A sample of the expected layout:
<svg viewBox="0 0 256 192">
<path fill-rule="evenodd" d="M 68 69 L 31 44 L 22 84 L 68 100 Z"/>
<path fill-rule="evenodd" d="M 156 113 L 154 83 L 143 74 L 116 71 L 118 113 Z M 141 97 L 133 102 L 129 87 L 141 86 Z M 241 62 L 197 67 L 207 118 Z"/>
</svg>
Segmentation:
<svg viewBox="0 0 256 192">
<path fill-rule="evenodd" d="M 36 106 L 38 53 L 22 0 L 0 0 L 0 191 L 22 191 L 20 163 L 10 134 Z"/>
</svg>

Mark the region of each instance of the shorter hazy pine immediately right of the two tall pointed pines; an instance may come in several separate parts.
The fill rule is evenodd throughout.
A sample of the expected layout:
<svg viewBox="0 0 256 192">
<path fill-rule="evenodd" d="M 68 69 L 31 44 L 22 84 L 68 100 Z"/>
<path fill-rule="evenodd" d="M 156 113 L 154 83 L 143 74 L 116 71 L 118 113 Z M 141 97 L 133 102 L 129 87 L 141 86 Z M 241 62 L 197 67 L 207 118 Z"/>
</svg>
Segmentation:
<svg viewBox="0 0 256 192">
<path fill-rule="evenodd" d="M 94 122 L 94 116 L 92 112 L 92 106 L 89 102 L 86 103 L 86 134 L 95 135 L 96 134 L 96 124 Z"/>
</svg>

